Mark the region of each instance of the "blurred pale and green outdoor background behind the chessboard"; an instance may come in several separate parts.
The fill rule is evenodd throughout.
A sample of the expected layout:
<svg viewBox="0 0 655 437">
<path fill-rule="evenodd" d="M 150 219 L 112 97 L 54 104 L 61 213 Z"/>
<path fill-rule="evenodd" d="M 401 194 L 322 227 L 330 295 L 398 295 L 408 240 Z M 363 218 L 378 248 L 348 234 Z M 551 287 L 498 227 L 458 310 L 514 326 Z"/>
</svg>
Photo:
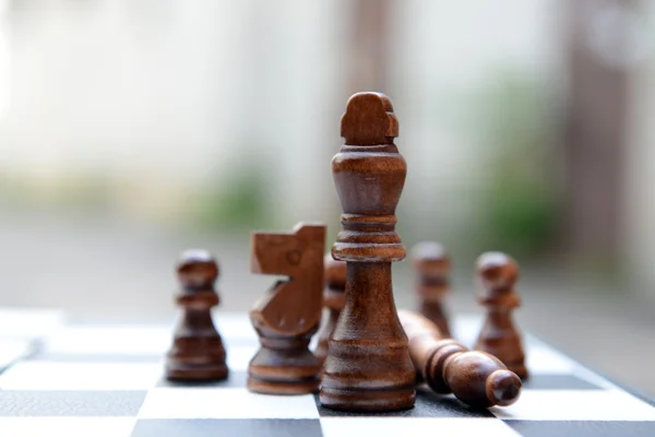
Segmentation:
<svg viewBox="0 0 655 437">
<path fill-rule="evenodd" d="M 0 0 L 0 303 L 169 320 L 174 264 L 221 310 L 274 282 L 252 229 L 338 232 L 330 160 L 357 91 L 408 163 L 398 229 L 522 267 L 522 329 L 655 394 L 655 2 Z M 414 307 L 408 262 L 398 306 Z M 218 316 L 219 317 L 219 316 Z"/>
</svg>

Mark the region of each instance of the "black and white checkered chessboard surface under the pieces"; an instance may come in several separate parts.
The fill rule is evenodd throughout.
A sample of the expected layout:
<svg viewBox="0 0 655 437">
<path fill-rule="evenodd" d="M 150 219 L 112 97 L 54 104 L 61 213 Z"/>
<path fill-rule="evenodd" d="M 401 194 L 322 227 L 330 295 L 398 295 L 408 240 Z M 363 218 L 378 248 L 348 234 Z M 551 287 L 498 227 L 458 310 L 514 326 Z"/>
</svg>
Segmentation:
<svg viewBox="0 0 655 437">
<path fill-rule="evenodd" d="M 315 395 L 245 388 L 258 339 L 246 315 L 215 314 L 230 377 L 162 377 L 172 326 L 75 326 L 0 310 L 0 435 L 9 436 L 655 436 L 655 408 L 525 335 L 532 379 L 509 408 L 473 411 L 419 389 L 413 410 L 338 413 Z M 479 317 L 453 321 L 471 344 Z"/>
</svg>

